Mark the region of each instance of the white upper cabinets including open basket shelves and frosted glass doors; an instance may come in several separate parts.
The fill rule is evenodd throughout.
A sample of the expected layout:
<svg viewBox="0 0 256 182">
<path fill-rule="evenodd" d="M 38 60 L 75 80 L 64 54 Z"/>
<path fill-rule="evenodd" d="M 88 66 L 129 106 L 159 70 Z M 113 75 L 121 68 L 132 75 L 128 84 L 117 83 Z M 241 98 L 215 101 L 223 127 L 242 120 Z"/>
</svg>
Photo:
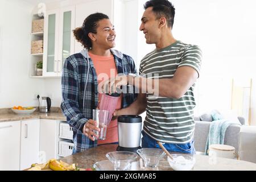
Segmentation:
<svg viewBox="0 0 256 182">
<path fill-rule="evenodd" d="M 74 0 L 67 3 L 56 2 L 46 7 L 44 16 L 40 17 L 36 14 L 36 10 L 32 15 L 32 21 L 41 19 L 38 22 L 43 22 L 43 31 L 35 33 L 31 31 L 31 40 L 40 40 L 36 42 L 38 47 L 34 48 L 39 48 L 40 53 L 31 54 L 30 77 L 61 77 L 65 59 L 84 48 L 75 40 L 72 30 L 81 27 L 84 19 L 93 13 L 100 12 L 109 16 L 118 34 L 115 48 L 119 49 L 118 45 L 122 43 L 119 37 L 124 36 L 118 32 L 123 23 L 122 13 L 120 15 L 123 7 L 122 0 Z M 118 15 L 114 16 L 117 12 L 119 12 Z M 36 63 L 40 60 L 43 61 L 42 76 L 38 74 L 40 71 L 36 71 Z"/>
</svg>

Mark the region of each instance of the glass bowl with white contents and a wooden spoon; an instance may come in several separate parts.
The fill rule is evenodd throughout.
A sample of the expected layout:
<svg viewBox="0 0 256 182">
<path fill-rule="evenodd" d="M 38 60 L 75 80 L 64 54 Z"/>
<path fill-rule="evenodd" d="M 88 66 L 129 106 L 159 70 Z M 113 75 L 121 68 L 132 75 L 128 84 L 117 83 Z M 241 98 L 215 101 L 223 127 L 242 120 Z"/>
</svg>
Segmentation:
<svg viewBox="0 0 256 182">
<path fill-rule="evenodd" d="M 193 154 L 171 154 L 174 160 L 167 158 L 171 168 L 175 171 L 189 171 L 196 163 L 196 158 Z"/>
</svg>

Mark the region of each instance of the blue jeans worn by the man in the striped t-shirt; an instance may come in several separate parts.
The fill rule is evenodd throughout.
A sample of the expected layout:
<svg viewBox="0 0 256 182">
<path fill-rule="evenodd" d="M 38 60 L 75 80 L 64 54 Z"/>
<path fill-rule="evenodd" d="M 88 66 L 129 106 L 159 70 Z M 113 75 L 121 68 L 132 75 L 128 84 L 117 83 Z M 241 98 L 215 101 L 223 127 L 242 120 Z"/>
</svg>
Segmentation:
<svg viewBox="0 0 256 182">
<path fill-rule="evenodd" d="M 141 139 L 142 148 L 161 148 L 159 144 L 156 142 L 156 140 L 152 139 L 144 131 L 142 131 L 142 136 L 143 136 Z M 166 148 L 166 150 L 170 152 L 183 152 L 187 154 L 196 154 L 193 140 L 185 144 L 163 143 L 163 146 Z"/>
</svg>

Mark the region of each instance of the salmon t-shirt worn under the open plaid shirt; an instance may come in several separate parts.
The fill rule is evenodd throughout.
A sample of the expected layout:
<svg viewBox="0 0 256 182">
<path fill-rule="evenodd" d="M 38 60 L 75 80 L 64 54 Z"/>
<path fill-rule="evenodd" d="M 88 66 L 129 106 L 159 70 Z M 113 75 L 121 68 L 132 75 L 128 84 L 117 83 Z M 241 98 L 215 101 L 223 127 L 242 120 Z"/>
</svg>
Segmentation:
<svg viewBox="0 0 256 182">
<path fill-rule="evenodd" d="M 101 81 L 105 81 L 106 78 L 117 76 L 117 68 L 115 67 L 114 56 L 98 56 L 89 52 L 89 56 L 93 61 L 94 68 L 98 77 L 98 84 Z M 99 101 L 101 101 L 102 94 L 99 93 Z M 122 94 L 118 99 L 117 107 L 115 109 L 121 109 Z M 117 131 L 117 119 L 110 121 L 108 129 L 106 131 L 106 139 L 98 140 L 98 144 L 106 144 L 118 142 Z"/>
</svg>

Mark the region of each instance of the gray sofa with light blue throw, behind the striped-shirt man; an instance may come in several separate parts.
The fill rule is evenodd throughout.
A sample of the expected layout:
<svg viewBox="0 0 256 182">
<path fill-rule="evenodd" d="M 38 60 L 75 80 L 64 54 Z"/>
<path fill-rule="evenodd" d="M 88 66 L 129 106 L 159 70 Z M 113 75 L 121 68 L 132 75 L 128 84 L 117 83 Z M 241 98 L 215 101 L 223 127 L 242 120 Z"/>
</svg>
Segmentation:
<svg viewBox="0 0 256 182">
<path fill-rule="evenodd" d="M 198 153 L 203 154 L 201 152 L 205 151 L 205 144 L 207 142 L 207 137 L 209 133 L 210 121 L 200 121 L 202 117 L 195 117 L 195 149 Z M 241 125 L 245 124 L 245 119 L 243 117 L 238 117 Z M 224 144 L 229 146 L 233 146 L 236 148 L 236 152 L 239 152 L 239 137 L 240 137 L 240 129 L 241 126 L 238 125 L 230 125 L 226 129 Z"/>
</svg>

